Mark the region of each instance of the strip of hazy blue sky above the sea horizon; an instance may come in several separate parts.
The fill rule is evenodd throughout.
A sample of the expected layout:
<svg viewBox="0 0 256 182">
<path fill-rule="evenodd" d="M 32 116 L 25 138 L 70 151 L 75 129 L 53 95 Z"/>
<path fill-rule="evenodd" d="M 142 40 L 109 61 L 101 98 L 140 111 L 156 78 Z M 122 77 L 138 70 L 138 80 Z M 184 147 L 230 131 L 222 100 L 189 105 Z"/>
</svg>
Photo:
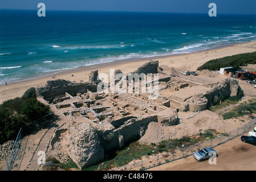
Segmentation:
<svg viewBox="0 0 256 182">
<path fill-rule="evenodd" d="M 1 0 L 1 9 L 34 9 L 44 3 L 46 10 L 154 11 L 208 13 L 216 3 L 217 14 L 256 14 L 256 0 Z"/>
</svg>

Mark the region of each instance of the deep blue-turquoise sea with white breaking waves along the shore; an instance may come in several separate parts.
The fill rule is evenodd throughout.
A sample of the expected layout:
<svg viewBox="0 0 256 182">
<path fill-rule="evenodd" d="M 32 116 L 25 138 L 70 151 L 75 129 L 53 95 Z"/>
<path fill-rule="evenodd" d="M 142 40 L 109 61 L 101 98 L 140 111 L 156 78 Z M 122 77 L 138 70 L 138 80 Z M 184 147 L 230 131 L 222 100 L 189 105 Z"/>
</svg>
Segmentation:
<svg viewBox="0 0 256 182">
<path fill-rule="evenodd" d="M 0 10 L 0 84 L 252 40 L 255 15 Z"/>
</svg>

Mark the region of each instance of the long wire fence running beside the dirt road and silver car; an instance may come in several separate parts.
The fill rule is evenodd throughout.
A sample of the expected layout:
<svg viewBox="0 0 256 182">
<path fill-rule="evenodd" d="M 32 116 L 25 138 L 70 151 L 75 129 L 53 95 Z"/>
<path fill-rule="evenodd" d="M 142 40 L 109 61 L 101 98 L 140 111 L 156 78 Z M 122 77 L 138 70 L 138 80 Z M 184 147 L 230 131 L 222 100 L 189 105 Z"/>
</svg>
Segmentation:
<svg viewBox="0 0 256 182">
<path fill-rule="evenodd" d="M 222 143 L 225 143 L 231 139 L 234 139 L 235 137 L 242 135 L 246 133 L 253 125 L 256 123 L 256 118 L 252 119 L 250 122 L 248 122 L 246 125 L 243 125 L 239 127 L 238 129 L 235 129 L 233 131 L 230 131 L 229 133 L 225 133 L 221 135 L 220 137 L 207 140 L 206 142 L 198 143 L 193 146 L 185 147 L 180 150 L 176 150 L 173 152 L 169 152 L 162 155 L 157 155 L 153 158 L 149 158 L 146 160 L 141 160 L 140 162 L 128 164 L 122 167 L 118 167 L 115 169 L 112 169 L 112 171 L 122 171 L 122 170 L 141 170 L 141 169 L 147 169 L 155 166 L 159 166 L 160 164 L 172 162 L 173 160 L 185 158 L 186 156 L 193 155 L 194 152 L 201 150 L 205 147 L 216 147 Z"/>
</svg>

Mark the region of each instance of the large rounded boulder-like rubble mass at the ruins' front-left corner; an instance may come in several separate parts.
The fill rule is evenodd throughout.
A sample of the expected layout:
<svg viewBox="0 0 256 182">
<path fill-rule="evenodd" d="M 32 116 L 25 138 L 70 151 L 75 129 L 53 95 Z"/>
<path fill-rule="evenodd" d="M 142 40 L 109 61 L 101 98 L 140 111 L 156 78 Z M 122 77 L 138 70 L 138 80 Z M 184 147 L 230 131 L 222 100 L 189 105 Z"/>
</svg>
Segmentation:
<svg viewBox="0 0 256 182">
<path fill-rule="evenodd" d="M 71 131 L 70 158 L 79 168 L 88 167 L 104 159 L 97 130 L 89 123 L 81 123 Z"/>
</svg>

